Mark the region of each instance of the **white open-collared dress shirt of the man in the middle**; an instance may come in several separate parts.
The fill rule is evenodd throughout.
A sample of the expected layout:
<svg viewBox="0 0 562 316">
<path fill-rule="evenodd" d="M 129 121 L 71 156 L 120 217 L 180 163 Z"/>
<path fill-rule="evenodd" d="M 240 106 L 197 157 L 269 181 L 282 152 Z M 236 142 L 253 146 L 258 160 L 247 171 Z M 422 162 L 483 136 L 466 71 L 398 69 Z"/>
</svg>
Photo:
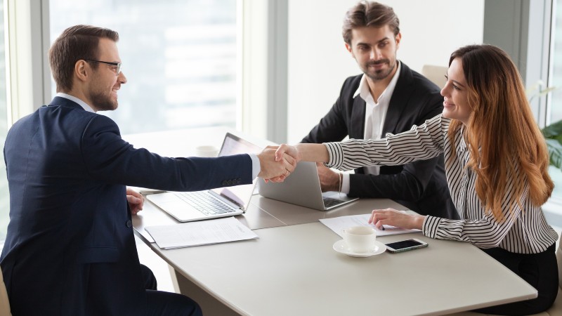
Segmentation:
<svg viewBox="0 0 562 316">
<path fill-rule="evenodd" d="M 388 112 L 388 105 L 391 102 L 392 94 L 394 93 L 394 88 L 396 87 L 396 82 L 398 77 L 400 77 L 400 61 L 397 60 L 398 67 L 391 81 L 386 86 L 386 89 L 382 91 L 381 95 L 374 101 L 367 83 L 367 76 L 363 74 L 357 91 L 353 94 L 353 98 L 358 96 L 365 100 L 365 131 L 363 138 L 365 139 L 380 139 L 382 134 L 382 129 L 384 127 L 384 119 L 386 119 L 386 112 Z M 366 166 L 363 167 L 365 173 L 378 175 L 380 171 L 380 166 Z M 341 192 L 349 193 L 349 173 L 344 173 L 344 177 L 341 182 Z"/>
</svg>

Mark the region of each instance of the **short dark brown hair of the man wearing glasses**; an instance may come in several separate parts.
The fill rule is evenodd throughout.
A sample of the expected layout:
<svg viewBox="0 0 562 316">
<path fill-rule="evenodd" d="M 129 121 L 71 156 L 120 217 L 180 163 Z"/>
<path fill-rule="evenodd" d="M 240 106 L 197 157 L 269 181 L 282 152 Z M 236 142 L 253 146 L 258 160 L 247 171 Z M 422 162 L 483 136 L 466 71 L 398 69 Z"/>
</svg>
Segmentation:
<svg viewBox="0 0 562 316">
<path fill-rule="evenodd" d="M 78 60 L 97 60 L 100 38 L 119 41 L 119 34 L 111 29 L 91 25 L 75 25 L 60 34 L 48 51 L 51 72 L 57 92 L 72 89 L 72 73 Z M 98 64 L 93 62 L 96 69 Z"/>
</svg>

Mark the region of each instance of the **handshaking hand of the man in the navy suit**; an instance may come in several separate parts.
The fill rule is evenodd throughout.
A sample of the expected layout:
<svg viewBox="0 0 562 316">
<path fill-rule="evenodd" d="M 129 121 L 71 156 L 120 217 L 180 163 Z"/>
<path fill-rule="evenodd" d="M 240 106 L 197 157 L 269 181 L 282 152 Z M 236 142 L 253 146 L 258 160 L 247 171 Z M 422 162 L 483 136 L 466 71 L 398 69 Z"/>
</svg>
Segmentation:
<svg viewBox="0 0 562 316">
<path fill-rule="evenodd" d="M 280 155 L 277 159 L 275 147 L 268 146 L 263 152 L 258 154 L 261 170 L 258 176 L 266 180 L 282 182 L 296 167 L 296 160 L 289 154 Z"/>
</svg>

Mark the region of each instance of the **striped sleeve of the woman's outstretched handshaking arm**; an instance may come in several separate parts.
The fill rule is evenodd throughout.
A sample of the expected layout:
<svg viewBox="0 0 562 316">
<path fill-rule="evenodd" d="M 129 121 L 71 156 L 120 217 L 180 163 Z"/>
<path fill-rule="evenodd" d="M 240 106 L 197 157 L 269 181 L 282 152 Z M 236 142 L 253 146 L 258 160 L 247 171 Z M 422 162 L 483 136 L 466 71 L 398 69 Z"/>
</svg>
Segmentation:
<svg viewBox="0 0 562 316">
<path fill-rule="evenodd" d="M 361 166 L 392 166 L 430 159 L 443 152 L 445 137 L 443 124 L 448 122 L 438 115 L 410 131 L 379 140 L 351 139 L 343 143 L 325 143 L 329 154 L 326 166 L 351 170 Z"/>
</svg>

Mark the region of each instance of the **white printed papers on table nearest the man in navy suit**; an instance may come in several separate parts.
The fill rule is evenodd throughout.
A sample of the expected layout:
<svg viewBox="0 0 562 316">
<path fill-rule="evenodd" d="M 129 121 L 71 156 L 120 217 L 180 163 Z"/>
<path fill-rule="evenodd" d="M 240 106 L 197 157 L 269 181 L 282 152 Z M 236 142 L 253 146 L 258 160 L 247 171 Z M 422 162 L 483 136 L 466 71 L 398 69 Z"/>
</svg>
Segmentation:
<svg viewBox="0 0 562 316">
<path fill-rule="evenodd" d="M 162 249 L 259 238 L 256 233 L 252 232 L 240 223 L 240 220 L 234 217 L 174 225 L 149 226 L 145 230 Z"/>
</svg>

